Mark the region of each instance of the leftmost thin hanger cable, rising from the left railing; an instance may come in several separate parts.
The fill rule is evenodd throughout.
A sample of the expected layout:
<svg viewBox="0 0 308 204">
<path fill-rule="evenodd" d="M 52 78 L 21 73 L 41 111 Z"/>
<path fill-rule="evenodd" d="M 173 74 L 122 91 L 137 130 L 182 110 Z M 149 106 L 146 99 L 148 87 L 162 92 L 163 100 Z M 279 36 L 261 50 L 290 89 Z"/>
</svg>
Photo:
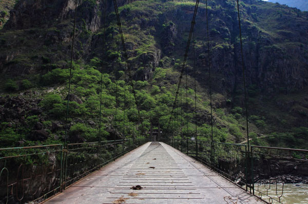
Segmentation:
<svg viewBox="0 0 308 204">
<path fill-rule="evenodd" d="M 70 68 L 69 68 L 69 82 L 68 82 L 68 95 L 67 95 L 66 119 L 65 119 L 65 133 L 64 133 L 64 148 L 65 148 L 65 146 L 66 146 L 66 139 L 67 139 L 68 110 L 69 110 L 69 95 L 70 95 L 70 85 L 71 85 L 71 78 L 72 78 L 72 64 L 73 64 L 73 50 L 74 50 L 74 41 L 75 41 L 76 16 L 77 16 L 77 0 L 76 0 L 76 3 L 75 3 L 75 15 L 74 15 L 74 26 L 73 26 L 73 38 L 72 38 L 71 57 L 70 57 Z"/>
</svg>

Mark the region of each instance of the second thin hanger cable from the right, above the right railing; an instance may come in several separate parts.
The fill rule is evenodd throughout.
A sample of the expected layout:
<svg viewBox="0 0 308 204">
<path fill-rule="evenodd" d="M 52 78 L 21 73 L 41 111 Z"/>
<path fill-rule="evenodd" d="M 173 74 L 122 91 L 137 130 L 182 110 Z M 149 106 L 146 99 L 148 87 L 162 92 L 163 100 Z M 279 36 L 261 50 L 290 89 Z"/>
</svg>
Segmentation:
<svg viewBox="0 0 308 204">
<path fill-rule="evenodd" d="M 207 8 L 207 0 L 205 0 L 206 6 L 206 35 L 207 35 L 207 61 L 208 61 L 208 80 L 209 80 L 209 105 L 210 105 L 210 140 L 211 140 L 211 155 L 213 155 L 214 151 L 214 143 L 213 143 L 213 101 L 212 101 L 212 88 L 211 88 L 211 67 L 210 67 L 210 49 L 209 49 L 209 32 L 208 32 L 208 8 Z M 213 158 L 212 158 L 213 159 Z"/>
</svg>

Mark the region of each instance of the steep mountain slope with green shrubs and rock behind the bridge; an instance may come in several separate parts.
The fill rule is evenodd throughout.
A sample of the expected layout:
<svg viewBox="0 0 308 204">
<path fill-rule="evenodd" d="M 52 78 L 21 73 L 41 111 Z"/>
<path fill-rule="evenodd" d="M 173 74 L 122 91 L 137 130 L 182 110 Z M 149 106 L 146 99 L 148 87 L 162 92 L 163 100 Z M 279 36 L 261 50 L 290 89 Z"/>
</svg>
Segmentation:
<svg viewBox="0 0 308 204">
<path fill-rule="evenodd" d="M 131 87 L 125 85 L 128 79 L 124 73 L 125 59 L 113 5 L 108 4 L 106 8 L 107 44 L 103 52 L 104 1 L 80 1 L 73 54 L 71 142 L 97 139 L 97 132 L 91 130 L 97 130 L 99 124 L 100 71 L 104 73 L 104 138 L 123 138 L 136 133 L 146 135 L 150 124 L 158 123 L 163 131 L 167 131 L 168 114 L 174 100 L 195 3 L 119 1 L 119 6 L 142 120 L 136 117 Z M 253 0 L 241 2 L 240 10 L 252 135 L 290 132 L 294 127 L 306 127 L 307 15 L 294 8 Z M 65 127 L 74 1 L 21 0 L 11 13 L 10 20 L 0 31 L 3 48 L 0 50 L 3 96 L 0 112 L 2 127 L 6 127 L 6 132 L 2 133 L 7 135 L 5 144 L 12 144 L 9 139 L 12 134 L 17 140 L 26 138 L 30 143 L 61 142 Z M 199 137 L 207 140 L 210 110 L 205 14 L 205 2 L 201 1 L 194 34 L 197 75 L 193 69 L 194 55 L 190 51 L 185 71 L 189 88 L 188 105 L 186 85 L 183 84 L 182 101 L 178 101 L 182 111 L 176 109 L 171 125 L 178 133 L 182 129 L 186 136 L 195 134 L 197 124 Z M 210 1 L 208 16 L 215 140 L 240 142 L 244 140 L 246 129 L 235 2 Z M 197 116 L 194 114 L 195 76 Z M 11 96 L 5 97 L 8 93 Z M 118 94 L 121 97 L 116 103 Z M 115 107 L 119 111 L 117 114 Z M 138 125 L 137 130 L 134 125 Z M 295 146 L 296 141 L 291 145 Z"/>
</svg>

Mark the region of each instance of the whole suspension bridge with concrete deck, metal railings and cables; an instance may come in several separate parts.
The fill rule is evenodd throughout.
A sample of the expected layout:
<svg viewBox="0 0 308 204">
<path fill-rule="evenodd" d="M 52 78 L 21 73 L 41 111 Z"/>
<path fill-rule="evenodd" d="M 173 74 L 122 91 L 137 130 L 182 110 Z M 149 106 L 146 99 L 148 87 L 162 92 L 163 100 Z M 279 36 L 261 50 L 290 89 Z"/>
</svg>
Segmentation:
<svg viewBox="0 0 308 204">
<path fill-rule="evenodd" d="M 151 141 L 152 138 L 145 137 L 103 141 L 100 137 L 100 123 L 99 141 L 68 144 L 68 110 L 77 2 L 74 13 L 64 144 L 0 149 L 0 203 L 285 203 L 283 201 L 284 181 L 279 180 L 279 176 L 290 174 L 301 175 L 302 178 L 308 176 L 306 173 L 308 151 L 249 145 L 245 66 L 238 0 L 246 145 L 214 142 L 211 81 L 209 81 L 211 141 L 198 140 L 197 125 L 194 135 L 183 135 L 182 131 L 179 133 L 173 129 L 168 131 L 171 129 L 179 100 L 182 100 L 180 89 L 191 41 L 192 50 L 194 51 L 195 48 L 194 26 L 198 0 L 191 19 L 168 128 L 163 131 L 162 137 L 157 138 L 159 141 Z M 121 39 L 125 57 L 125 76 L 127 74 L 129 77 L 131 91 L 136 99 L 117 1 L 114 0 L 113 3 L 119 26 L 119 39 Z M 205 3 L 207 8 L 207 1 Z M 106 10 L 104 24 L 106 24 Z M 208 23 L 206 26 L 210 80 Z M 104 50 L 105 37 L 102 47 Z M 103 74 L 103 70 L 101 72 Z M 118 93 L 116 100 L 115 109 L 118 108 Z M 124 100 L 126 100 L 125 94 Z M 138 103 L 136 101 L 134 103 L 141 121 Z M 102 104 L 102 86 L 100 104 Z M 186 101 L 188 114 L 187 105 Z M 101 112 L 102 106 L 100 106 L 100 122 Z M 115 113 L 117 118 L 117 111 Z M 196 100 L 195 114 L 197 114 Z M 182 124 L 179 126 L 181 130 L 188 129 L 188 127 L 182 127 Z M 180 139 L 175 135 L 180 135 Z M 264 188 L 261 188 L 263 186 Z M 274 189 L 274 194 L 269 192 L 271 189 Z"/>
</svg>

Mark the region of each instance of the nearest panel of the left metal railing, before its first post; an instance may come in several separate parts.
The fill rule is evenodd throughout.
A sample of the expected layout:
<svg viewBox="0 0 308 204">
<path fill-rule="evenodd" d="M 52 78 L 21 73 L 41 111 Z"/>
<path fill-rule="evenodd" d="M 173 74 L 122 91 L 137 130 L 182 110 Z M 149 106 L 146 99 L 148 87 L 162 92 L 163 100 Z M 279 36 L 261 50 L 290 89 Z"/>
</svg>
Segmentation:
<svg viewBox="0 0 308 204">
<path fill-rule="evenodd" d="M 0 149 L 0 202 L 40 201 L 61 190 L 62 145 Z"/>
</svg>

